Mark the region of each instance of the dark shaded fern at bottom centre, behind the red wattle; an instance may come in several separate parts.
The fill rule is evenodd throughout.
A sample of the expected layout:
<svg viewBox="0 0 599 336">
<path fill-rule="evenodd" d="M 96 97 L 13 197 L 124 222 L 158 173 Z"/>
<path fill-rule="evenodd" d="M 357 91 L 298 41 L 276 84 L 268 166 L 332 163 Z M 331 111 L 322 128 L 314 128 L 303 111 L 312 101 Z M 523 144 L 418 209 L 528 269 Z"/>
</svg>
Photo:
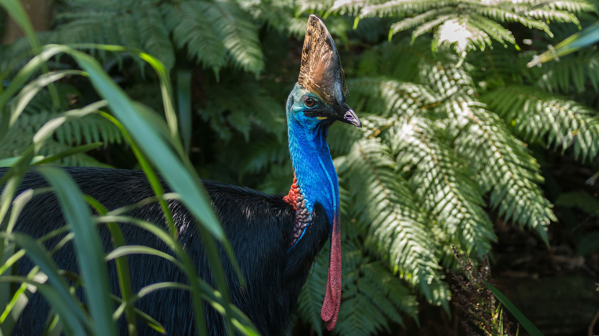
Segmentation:
<svg viewBox="0 0 599 336">
<path fill-rule="evenodd" d="M 316 334 L 322 335 L 320 307 L 326 283 L 328 248 L 320 251 L 299 300 L 298 314 Z M 343 291 L 335 332 L 341 335 L 374 335 L 389 331 L 389 322 L 403 325 L 402 314 L 416 318 L 418 303 L 409 289 L 373 260 L 358 242 L 344 239 Z"/>
</svg>

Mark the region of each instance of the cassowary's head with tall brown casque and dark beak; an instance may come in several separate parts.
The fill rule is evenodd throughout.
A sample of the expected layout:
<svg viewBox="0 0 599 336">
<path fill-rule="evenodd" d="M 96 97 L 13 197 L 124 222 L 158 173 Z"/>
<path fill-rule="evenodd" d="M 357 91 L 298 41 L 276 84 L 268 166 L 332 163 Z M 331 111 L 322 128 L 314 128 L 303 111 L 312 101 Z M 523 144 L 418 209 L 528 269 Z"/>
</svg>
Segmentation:
<svg viewBox="0 0 599 336">
<path fill-rule="evenodd" d="M 308 19 L 298 83 L 287 100 L 288 118 L 307 129 L 335 120 L 362 127 L 345 100 L 345 76 L 335 42 L 314 14 Z"/>
</svg>

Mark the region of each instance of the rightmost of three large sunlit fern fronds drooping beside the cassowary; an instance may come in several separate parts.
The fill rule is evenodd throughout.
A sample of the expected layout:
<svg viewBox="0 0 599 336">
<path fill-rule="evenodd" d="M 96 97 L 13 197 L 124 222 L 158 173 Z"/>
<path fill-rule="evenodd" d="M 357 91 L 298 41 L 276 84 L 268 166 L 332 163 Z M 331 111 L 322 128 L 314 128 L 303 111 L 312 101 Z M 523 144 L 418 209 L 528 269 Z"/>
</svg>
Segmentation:
<svg viewBox="0 0 599 336">
<path fill-rule="evenodd" d="M 469 166 L 489 206 L 506 221 L 528 225 L 547 240 L 547 225 L 557 218 L 543 197 L 540 166 L 495 114 L 477 106 L 462 106 L 470 126 L 456 139 L 456 151 L 468 153 Z"/>
</svg>

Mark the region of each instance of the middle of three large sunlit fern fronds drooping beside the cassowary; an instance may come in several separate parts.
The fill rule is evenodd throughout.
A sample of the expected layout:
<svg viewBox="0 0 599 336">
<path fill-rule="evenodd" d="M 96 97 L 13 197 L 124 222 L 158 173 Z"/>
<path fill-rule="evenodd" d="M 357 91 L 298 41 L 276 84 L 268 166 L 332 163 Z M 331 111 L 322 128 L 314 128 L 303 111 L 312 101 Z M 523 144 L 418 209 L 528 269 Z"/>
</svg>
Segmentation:
<svg viewBox="0 0 599 336">
<path fill-rule="evenodd" d="M 468 253 L 489 251 L 495 234 L 482 209 L 482 193 L 464 161 L 447 146 L 447 139 L 423 118 L 406 118 L 389 133 L 398 167 L 412 171 L 416 199 L 437 218 L 441 229 Z M 451 142 L 449 142 L 451 143 Z"/>
</svg>

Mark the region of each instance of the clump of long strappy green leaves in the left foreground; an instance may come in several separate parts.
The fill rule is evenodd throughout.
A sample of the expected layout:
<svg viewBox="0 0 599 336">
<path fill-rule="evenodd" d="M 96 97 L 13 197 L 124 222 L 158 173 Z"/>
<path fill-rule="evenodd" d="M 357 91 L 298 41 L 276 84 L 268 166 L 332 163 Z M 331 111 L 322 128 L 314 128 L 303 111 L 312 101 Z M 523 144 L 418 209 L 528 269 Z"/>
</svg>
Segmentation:
<svg viewBox="0 0 599 336">
<path fill-rule="evenodd" d="M 219 251 L 214 240 L 217 239 L 222 243 L 229 256 L 232 256 L 231 248 L 219 221 L 210 206 L 208 206 L 202 193 L 202 187 L 198 184 L 195 170 L 190 169 L 189 161 L 184 155 L 181 155 L 183 146 L 178 136 L 177 117 L 171 103 L 171 84 L 164 66 L 149 54 L 137 54 L 138 57 L 152 64 L 159 78 L 161 78 L 161 87 L 164 90 L 162 98 L 165 103 L 167 123 L 162 121 L 149 108 L 131 100 L 108 77 L 93 57 L 65 45 L 55 44 L 41 47 L 20 2 L 3 0 L 0 5 L 26 33 L 34 54 L 34 57 L 20 68 L 14 77 L 10 77 L 6 87 L 2 85 L 2 90 L 0 90 L 1 143 L 14 143 L 11 138 L 7 137 L 18 136 L 19 133 L 11 133 L 11 130 L 19 125 L 17 120 L 25 111 L 25 107 L 31 103 L 34 96 L 41 89 L 47 88 L 50 93 L 49 100 L 53 106 L 64 107 L 64 105 L 60 105 L 60 100 L 65 99 L 65 96 L 61 94 L 60 90 L 57 90 L 54 82 L 66 77 L 66 75 L 89 78 L 95 87 L 96 94 L 105 98 L 90 103 L 83 108 L 70 109 L 60 114 L 44 116 L 51 119 L 41 127 L 31 123 L 29 127 L 38 128 L 32 139 L 30 139 L 31 144 L 20 152 L 20 155 L 2 161 L 4 166 L 10 166 L 11 168 L 0 179 L 0 223 L 2 224 L 0 231 L 0 260 L 2 264 L 0 266 L 0 274 L 2 274 L 0 276 L 0 307 L 2 307 L 0 332 L 3 335 L 11 334 L 14 323 L 17 322 L 20 313 L 27 304 L 29 295 L 36 291 L 40 292 L 52 306 L 52 312 L 47 316 L 46 325 L 46 332 L 49 334 L 116 335 L 115 320 L 118 320 L 123 314 L 128 320 L 130 335 L 137 334 L 136 319 L 148 323 L 159 332 L 164 332 L 164 328 L 159 322 L 143 311 L 137 310 L 134 304 L 138 298 L 156 289 L 178 288 L 189 291 L 193 297 L 198 335 L 205 333 L 204 300 L 219 308 L 220 313 L 225 316 L 225 324 L 229 332 L 235 330 L 245 335 L 256 335 L 252 323 L 230 303 L 226 282 L 222 278 Z M 96 47 L 102 50 L 128 51 L 123 47 Z M 58 54 L 67 54 L 81 70 L 62 69 L 48 72 L 46 62 L 55 58 Z M 38 72 L 41 72 L 41 74 L 30 80 Z M 104 109 L 110 109 L 116 117 L 107 114 L 103 111 Z M 48 150 L 52 154 L 39 155 L 43 153 L 40 149 L 47 144 L 49 139 L 53 137 L 56 137 L 56 139 L 63 138 L 64 134 L 69 134 L 63 133 L 60 135 L 60 132 L 57 132 L 59 127 L 68 126 L 69 121 L 93 113 L 113 123 L 120 130 L 119 136 L 126 139 L 129 145 L 132 146 L 141 167 L 143 167 L 150 184 L 152 184 L 153 190 L 155 190 L 155 198 L 159 200 L 163 207 L 167 222 L 173 222 L 173 219 L 165 200 L 174 197 L 187 204 L 189 209 L 193 209 L 190 210 L 190 213 L 193 213 L 193 216 L 197 219 L 198 229 L 204 233 L 202 234 L 202 240 L 207 247 L 207 254 L 210 255 L 208 258 L 211 259 L 211 269 L 216 279 L 214 283 L 219 291 L 211 288 L 204 280 L 199 279 L 197 271 L 193 269 L 190 257 L 177 240 L 174 227 L 170 227 L 169 232 L 156 224 L 131 218 L 132 225 L 138 225 L 144 230 L 152 232 L 173 250 L 178 260 L 175 260 L 172 256 L 170 258 L 189 277 L 188 284 L 155 283 L 146 286 L 138 293 L 131 292 L 131 286 L 129 285 L 131 275 L 129 274 L 126 256 L 131 253 L 156 255 L 158 251 L 152 251 L 149 248 L 144 249 L 139 246 L 125 246 L 125 240 L 118 225 L 113 225 L 114 223 L 111 223 L 113 221 L 110 218 L 119 211 L 126 212 L 127 210 L 117 209 L 116 212 L 108 212 L 101 203 L 81 194 L 77 185 L 61 170 L 51 167 L 40 168 L 38 171 L 47 179 L 50 188 L 27 190 L 18 196 L 15 195 L 15 190 L 28 166 L 53 163 L 68 155 L 98 147 L 98 143 L 75 146 L 63 151 L 56 151 L 56 149 L 50 147 Z M 89 128 L 92 129 L 92 132 L 98 132 L 98 128 L 101 128 L 98 125 L 102 122 L 104 121 L 98 121 L 96 127 L 90 126 Z M 80 124 L 77 124 L 77 126 L 81 125 L 86 124 L 80 120 Z M 29 133 L 26 132 L 21 134 L 25 138 L 29 136 Z M 71 145 L 77 145 L 77 142 L 80 141 L 77 140 L 77 136 L 72 134 L 70 139 L 75 142 L 69 142 Z M 87 137 L 87 140 L 89 139 Z M 99 144 L 101 145 L 101 143 Z M 165 195 L 162 184 L 156 177 L 155 169 L 161 172 L 162 176 L 165 176 L 165 181 L 174 191 L 181 191 L 182 193 Z M 173 179 L 169 176 L 177 176 L 177 178 Z M 185 186 L 183 187 L 183 185 Z M 23 233 L 13 232 L 17 217 L 23 206 L 31 200 L 34 194 L 46 193 L 49 190 L 55 192 L 68 225 L 37 240 Z M 97 216 L 92 216 L 89 211 L 90 206 L 96 210 Z M 140 204 L 134 204 L 134 206 L 140 206 Z M 114 250 L 108 255 L 104 255 L 104 251 L 102 251 L 96 225 L 107 225 L 110 228 Z M 66 234 L 50 251 L 47 251 L 46 245 L 43 243 L 64 231 L 70 231 L 70 233 Z M 52 259 L 53 253 L 62 248 L 69 240 L 73 240 L 77 251 L 80 274 L 59 270 Z M 160 254 L 158 253 L 158 255 Z M 16 272 L 16 262 L 19 262 L 19 259 L 25 256 L 34 262 L 35 267 L 26 276 L 14 274 Z M 162 256 L 164 257 L 164 253 Z M 108 283 L 106 262 L 113 259 L 116 259 L 116 267 L 119 273 L 120 297 L 111 294 Z M 234 257 L 230 261 L 231 265 L 238 271 Z M 241 273 L 238 271 L 237 274 Z M 243 286 L 241 277 L 240 283 Z M 79 287 L 84 289 L 85 303 L 81 303 L 78 297 L 75 296 L 75 290 Z M 116 311 L 114 311 L 115 304 L 119 306 Z"/>
</svg>

